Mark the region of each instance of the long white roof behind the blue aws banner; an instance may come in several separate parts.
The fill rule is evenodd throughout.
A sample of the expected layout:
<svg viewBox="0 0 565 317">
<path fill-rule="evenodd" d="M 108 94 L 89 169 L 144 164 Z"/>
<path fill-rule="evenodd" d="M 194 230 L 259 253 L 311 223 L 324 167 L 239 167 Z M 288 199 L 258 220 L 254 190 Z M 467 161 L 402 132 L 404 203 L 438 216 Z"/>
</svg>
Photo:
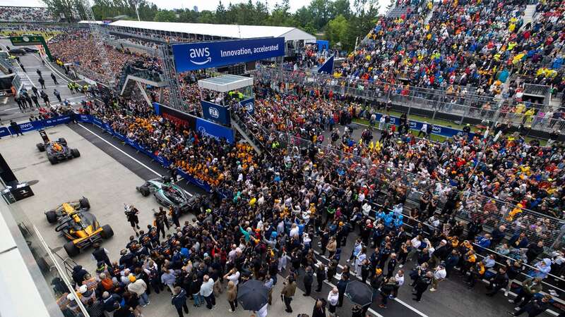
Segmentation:
<svg viewBox="0 0 565 317">
<path fill-rule="evenodd" d="M 110 23 L 118 27 L 135 27 L 145 30 L 179 32 L 186 34 L 208 35 L 213 37 L 228 37 L 232 39 L 253 39 L 257 37 L 285 37 L 285 41 L 304 40 L 316 42 L 316 37 L 297 27 L 275 27 L 263 25 L 230 25 L 207 23 L 173 23 L 118 20 Z"/>
</svg>

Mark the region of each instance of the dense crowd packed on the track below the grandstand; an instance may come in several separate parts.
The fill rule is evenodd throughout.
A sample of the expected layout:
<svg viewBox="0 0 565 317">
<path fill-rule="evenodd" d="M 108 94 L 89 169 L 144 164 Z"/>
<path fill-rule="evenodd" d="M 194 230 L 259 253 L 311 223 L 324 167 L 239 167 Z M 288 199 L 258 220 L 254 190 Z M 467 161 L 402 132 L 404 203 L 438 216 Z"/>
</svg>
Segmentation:
<svg viewBox="0 0 565 317">
<path fill-rule="evenodd" d="M 355 106 L 338 111 L 340 101 L 315 92 L 285 99 L 266 87 L 256 92 L 266 111 L 254 116 L 261 132 L 270 131 L 261 155 L 249 144 L 229 144 L 155 116 L 138 98 L 85 107 L 117 132 L 165 156 L 172 170 L 181 168 L 215 189 L 197 200 L 192 221 L 182 223 L 174 209 L 156 212 L 153 224 L 136 230 L 138 237 L 131 237 L 119 258 L 96 248 L 97 270 L 87 275 L 77 266 L 73 272 L 78 300 L 88 309 L 138 316 L 150 292 L 167 290 L 182 316 L 187 299 L 213 309 L 226 283 L 228 300 L 237 309 L 234 285 L 257 279 L 272 289 L 279 273 L 287 276 L 281 302 L 289 312 L 297 283 L 305 294 L 313 285 L 320 290 L 324 280 L 335 284 L 335 297 L 331 291 L 314 312 L 335 311 L 347 282 L 357 278 L 371 285 L 379 309 L 386 309 L 388 298 L 396 297 L 405 282 L 412 282 L 419 301 L 429 285 L 432 292 L 441 289 L 455 268 L 468 288 L 476 280 L 490 280 L 490 296 L 503 287 L 508 294 L 509 283 L 523 280 L 524 273 L 529 279 L 515 302 L 522 297 L 521 307 L 535 311 L 550 306 L 551 297 L 536 294 L 543 289 L 542 279 L 556 282 L 548 274 L 559 276 L 563 270 L 563 253 L 546 252 L 544 245 L 544 232 L 558 228 L 521 211 L 499 210 L 490 201 L 540 212 L 547 207 L 539 205 L 561 204 L 560 142 L 542 147 L 513 135 L 496 142 L 456 137 L 437 144 L 405 131 L 379 142 L 358 140 L 349 128 L 340 133 L 358 115 Z M 285 111 L 296 115 L 285 118 Z M 239 116 L 246 115 L 239 111 Z M 328 148 L 318 138 L 330 125 L 339 129 Z M 491 147 L 482 156 L 478 153 L 486 142 Z M 400 173 L 415 175 L 411 185 L 424 189 L 410 208 L 407 193 L 412 189 Z M 461 221 L 463 209 L 470 211 L 469 221 Z M 342 254 L 346 244 L 352 254 Z M 497 253 L 489 251 L 494 249 Z M 278 294 L 271 297 L 278 301 Z M 76 310 L 73 300 L 61 294 L 59 304 Z M 364 316 L 367 309 L 354 306 L 352 316 Z M 268 305 L 258 315 L 267 311 Z"/>
</svg>

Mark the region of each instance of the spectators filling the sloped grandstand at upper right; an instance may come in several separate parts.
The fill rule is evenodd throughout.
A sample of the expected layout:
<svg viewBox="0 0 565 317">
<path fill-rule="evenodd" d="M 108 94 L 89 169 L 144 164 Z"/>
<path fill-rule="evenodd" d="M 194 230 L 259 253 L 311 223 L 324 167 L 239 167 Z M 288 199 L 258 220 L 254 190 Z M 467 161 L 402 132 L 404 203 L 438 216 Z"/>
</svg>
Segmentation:
<svg viewBox="0 0 565 317">
<path fill-rule="evenodd" d="M 563 118 L 562 108 L 540 110 L 535 105 L 540 101 L 521 92 L 523 82 L 564 91 L 561 1 L 543 1 L 533 21 L 524 25 L 525 4 L 441 1 L 429 16 L 432 3 L 423 1 L 400 17 L 381 17 L 334 77 L 349 80 L 350 87 L 376 85 L 384 94 L 392 89 L 438 101 L 446 97 L 446 103 L 484 110 L 475 116 L 492 117 L 505 99 L 509 113 L 531 110 L 541 118 L 547 118 L 546 112 Z M 511 82 L 511 89 L 504 88 L 505 82 Z"/>
</svg>

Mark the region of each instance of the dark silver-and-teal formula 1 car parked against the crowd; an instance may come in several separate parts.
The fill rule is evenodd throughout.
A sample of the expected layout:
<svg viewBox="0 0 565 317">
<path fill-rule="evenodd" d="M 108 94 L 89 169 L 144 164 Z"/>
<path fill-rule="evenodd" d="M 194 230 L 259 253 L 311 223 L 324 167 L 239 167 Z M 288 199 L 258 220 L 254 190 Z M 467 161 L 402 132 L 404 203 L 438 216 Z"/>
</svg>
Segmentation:
<svg viewBox="0 0 565 317">
<path fill-rule="evenodd" d="M 179 185 L 172 182 L 172 179 L 168 176 L 162 176 L 160 178 L 153 178 L 148 180 L 143 185 L 136 187 L 138 192 L 144 197 L 149 196 L 153 192 L 153 196 L 157 199 L 159 204 L 165 207 L 177 207 L 182 213 L 186 213 L 194 209 L 198 197 L 189 197 L 184 189 L 179 187 Z"/>
</svg>

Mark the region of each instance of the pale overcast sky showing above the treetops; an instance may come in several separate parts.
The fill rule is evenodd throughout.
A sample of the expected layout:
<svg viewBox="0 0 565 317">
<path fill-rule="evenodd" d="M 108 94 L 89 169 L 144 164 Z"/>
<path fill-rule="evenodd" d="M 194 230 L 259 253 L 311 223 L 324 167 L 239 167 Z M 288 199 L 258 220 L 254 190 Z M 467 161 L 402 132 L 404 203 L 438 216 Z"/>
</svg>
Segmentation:
<svg viewBox="0 0 565 317">
<path fill-rule="evenodd" d="M 199 11 L 203 10 L 210 10 L 214 11 L 215 8 L 218 6 L 220 0 L 148 0 L 157 4 L 159 8 L 193 8 L 194 6 L 198 6 Z M 238 4 L 240 2 L 247 2 L 248 0 L 222 0 L 224 6 L 227 7 L 230 2 L 232 4 Z M 256 0 L 251 0 L 255 2 Z M 263 0 L 264 1 L 264 0 Z M 280 0 L 266 0 L 269 4 L 269 8 L 273 9 L 277 2 Z M 353 0 L 350 0 L 351 4 L 353 5 Z M 390 3 L 391 0 L 381 0 L 381 11 L 386 8 L 386 6 Z M 295 12 L 298 8 L 302 6 L 307 6 L 310 3 L 310 0 L 290 0 L 290 11 Z M 45 6 L 42 1 L 40 0 L 0 0 L 0 6 Z"/>
</svg>

